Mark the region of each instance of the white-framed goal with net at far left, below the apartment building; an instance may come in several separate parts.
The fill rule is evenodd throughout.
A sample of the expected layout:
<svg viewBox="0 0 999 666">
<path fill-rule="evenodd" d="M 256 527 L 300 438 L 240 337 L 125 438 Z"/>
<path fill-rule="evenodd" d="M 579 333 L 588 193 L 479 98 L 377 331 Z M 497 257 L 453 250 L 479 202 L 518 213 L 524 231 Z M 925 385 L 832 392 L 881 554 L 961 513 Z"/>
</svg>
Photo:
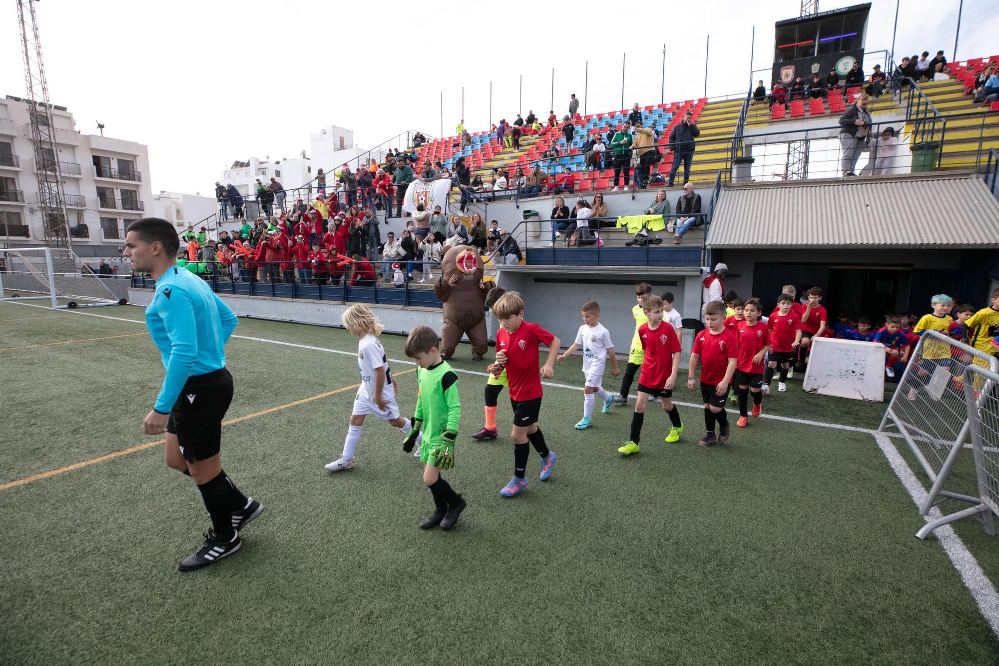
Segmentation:
<svg viewBox="0 0 999 666">
<path fill-rule="evenodd" d="M 0 300 L 45 299 L 52 301 L 53 308 L 125 302 L 68 248 L 4 249 L 0 250 L 0 259 Z M 61 304 L 60 298 L 68 302 Z"/>
</svg>

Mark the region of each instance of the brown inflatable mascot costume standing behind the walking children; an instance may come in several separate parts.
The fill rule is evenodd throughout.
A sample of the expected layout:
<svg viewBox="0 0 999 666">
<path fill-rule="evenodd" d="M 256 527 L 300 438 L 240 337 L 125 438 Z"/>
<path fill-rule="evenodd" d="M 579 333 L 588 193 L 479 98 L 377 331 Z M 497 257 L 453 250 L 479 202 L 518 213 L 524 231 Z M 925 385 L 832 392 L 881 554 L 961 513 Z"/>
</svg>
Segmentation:
<svg viewBox="0 0 999 666">
<path fill-rule="evenodd" d="M 444 275 L 434 285 L 434 293 L 444 303 L 441 353 L 446 359 L 454 356 L 465 333 L 472 343 L 472 358 L 480 360 L 488 348 L 486 296 L 494 285 L 483 282 L 483 260 L 471 245 L 450 248 L 441 268 Z"/>
</svg>

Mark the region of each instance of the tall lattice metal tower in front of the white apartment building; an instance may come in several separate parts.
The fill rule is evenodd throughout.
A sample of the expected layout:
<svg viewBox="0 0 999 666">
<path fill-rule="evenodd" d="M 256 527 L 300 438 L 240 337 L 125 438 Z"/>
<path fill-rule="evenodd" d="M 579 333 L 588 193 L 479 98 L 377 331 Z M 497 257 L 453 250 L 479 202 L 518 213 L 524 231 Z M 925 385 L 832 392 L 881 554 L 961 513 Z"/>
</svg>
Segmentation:
<svg viewBox="0 0 999 666">
<path fill-rule="evenodd" d="M 21 47 L 24 51 L 24 83 L 31 117 L 31 140 L 35 157 L 35 177 L 38 179 L 38 209 L 42 213 L 45 244 L 69 247 L 69 216 L 62 195 L 62 171 L 56 148 L 55 124 L 49 103 L 49 86 L 45 80 L 42 44 L 38 38 L 38 17 L 35 0 L 17 0 L 17 17 L 21 23 Z"/>
</svg>

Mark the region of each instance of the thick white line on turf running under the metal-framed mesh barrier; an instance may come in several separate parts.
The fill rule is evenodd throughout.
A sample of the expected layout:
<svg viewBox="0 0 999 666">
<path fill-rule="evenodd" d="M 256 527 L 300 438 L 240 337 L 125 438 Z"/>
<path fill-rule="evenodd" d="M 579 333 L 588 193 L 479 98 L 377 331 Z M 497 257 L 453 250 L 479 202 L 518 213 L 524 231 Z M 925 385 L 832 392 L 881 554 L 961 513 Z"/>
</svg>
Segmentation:
<svg viewBox="0 0 999 666">
<path fill-rule="evenodd" d="M 881 452 L 884 453 L 884 457 L 888 459 L 888 464 L 891 465 L 895 476 L 898 477 L 898 480 L 902 482 L 902 486 L 908 491 L 909 497 L 912 498 L 917 507 L 922 506 L 926 501 L 926 490 L 919 483 L 918 479 L 916 479 L 915 474 L 912 473 L 912 469 L 905 462 L 905 459 L 902 458 L 898 449 L 895 448 L 895 445 L 891 443 L 891 440 L 884 433 L 876 433 L 874 440 L 881 448 Z M 930 515 L 925 516 L 925 520 L 926 522 L 936 520 L 942 515 L 940 509 L 933 507 L 930 510 Z M 971 592 L 971 596 L 974 597 L 975 603 L 978 604 L 982 615 L 988 621 L 989 625 L 991 625 L 992 631 L 999 636 L 999 593 L 996 592 L 992 581 L 982 571 L 974 555 L 964 545 L 961 538 L 957 536 L 951 525 L 944 525 L 937 528 L 933 533 L 940 540 L 940 545 L 943 546 L 954 568 L 961 575 L 961 580 L 964 582 L 965 587 L 968 588 L 968 591 Z"/>
</svg>

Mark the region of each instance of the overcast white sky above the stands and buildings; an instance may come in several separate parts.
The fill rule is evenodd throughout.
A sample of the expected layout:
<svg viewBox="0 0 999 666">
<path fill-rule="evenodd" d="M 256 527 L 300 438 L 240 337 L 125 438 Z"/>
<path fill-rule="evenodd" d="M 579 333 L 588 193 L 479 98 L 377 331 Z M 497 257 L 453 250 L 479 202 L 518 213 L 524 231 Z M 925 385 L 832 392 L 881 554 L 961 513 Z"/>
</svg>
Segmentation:
<svg viewBox="0 0 999 666">
<path fill-rule="evenodd" d="M 958 1 L 903 0 L 896 60 L 924 49 L 952 60 Z M 494 121 L 515 117 L 521 74 L 523 114 L 546 113 L 554 67 L 560 115 L 569 93 L 583 99 L 588 60 L 587 111 L 620 109 L 622 52 L 625 106 L 658 103 L 663 43 L 665 101 L 700 97 L 708 33 L 708 96 L 744 93 L 752 27 L 754 67 L 768 67 L 774 21 L 800 6 L 515 4 L 524 17 L 516 25 L 508 13 L 500 19 L 503 5 L 469 0 L 44 0 L 37 11 L 50 101 L 68 107 L 85 133 L 100 120 L 108 136 L 147 144 L 154 192 L 211 194 L 234 160 L 294 157 L 326 125 L 353 129 L 364 147 L 408 129 L 440 135 L 442 90 L 445 134 L 453 134 L 463 85 L 466 126 L 487 129 L 491 79 Z M 820 0 L 819 9 L 854 4 Z M 994 8 L 995 0 L 965 0 L 959 58 L 999 52 Z M 891 48 L 894 18 L 894 0 L 873 0 L 868 51 Z M 0 63 L 0 93 L 23 96 L 13 1 L 0 9 Z"/>
</svg>

